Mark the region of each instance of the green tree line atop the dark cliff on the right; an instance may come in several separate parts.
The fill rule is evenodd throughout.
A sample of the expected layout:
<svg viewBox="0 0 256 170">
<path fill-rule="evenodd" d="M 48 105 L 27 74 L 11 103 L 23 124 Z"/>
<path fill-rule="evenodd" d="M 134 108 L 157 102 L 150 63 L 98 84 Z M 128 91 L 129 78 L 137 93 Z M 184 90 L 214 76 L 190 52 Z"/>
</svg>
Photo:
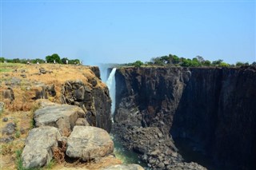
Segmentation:
<svg viewBox="0 0 256 170">
<path fill-rule="evenodd" d="M 192 59 L 185 57 L 178 57 L 176 55 L 169 54 L 168 56 L 153 57 L 150 61 L 143 63 L 142 61 L 135 61 L 133 63 L 126 63 L 119 66 L 135 66 L 140 67 L 142 65 L 160 65 L 160 66 L 182 66 L 182 67 L 202 67 L 202 66 L 218 66 L 218 67 L 235 67 L 235 66 L 256 66 L 256 62 L 249 64 L 248 62 L 238 61 L 234 65 L 224 62 L 222 59 L 216 61 L 205 60 L 202 56 L 197 56 Z"/>
</svg>

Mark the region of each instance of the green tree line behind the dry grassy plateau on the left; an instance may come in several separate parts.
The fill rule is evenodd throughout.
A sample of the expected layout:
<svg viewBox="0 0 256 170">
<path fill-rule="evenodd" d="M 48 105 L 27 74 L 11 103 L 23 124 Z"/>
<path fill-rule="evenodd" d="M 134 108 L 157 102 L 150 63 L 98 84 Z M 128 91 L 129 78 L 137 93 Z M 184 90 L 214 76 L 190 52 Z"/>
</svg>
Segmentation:
<svg viewBox="0 0 256 170">
<path fill-rule="evenodd" d="M 70 64 L 70 65 L 77 65 L 82 64 L 82 61 L 79 59 L 68 59 L 67 57 L 59 57 L 58 53 L 54 53 L 52 55 L 48 55 L 45 57 L 45 60 L 42 58 L 35 58 L 35 59 L 20 59 L 20 58 L 14 58 L 14 59 L 8 59 L 5 57 L 0 57 L 0 62 L 8 62 L 8 63 L 58 63 L 58 64 Z"/>
</svg>

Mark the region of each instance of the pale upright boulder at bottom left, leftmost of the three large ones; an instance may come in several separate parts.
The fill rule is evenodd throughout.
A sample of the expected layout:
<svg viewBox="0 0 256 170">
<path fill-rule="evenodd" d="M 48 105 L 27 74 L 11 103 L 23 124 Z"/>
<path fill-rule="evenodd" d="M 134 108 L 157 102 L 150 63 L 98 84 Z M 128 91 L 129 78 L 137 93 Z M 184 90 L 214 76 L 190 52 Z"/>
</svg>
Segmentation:
<svg viewBox="0 0 256 170">
<path fill-rule="evenodd" d="M 24 168 L 40 168 L 53 158 L 52 147 L 58 147 L 61 134 L 58 128 L 44 126 L 33 128 L 26 138 L 22 152 Z"/>
</svg>

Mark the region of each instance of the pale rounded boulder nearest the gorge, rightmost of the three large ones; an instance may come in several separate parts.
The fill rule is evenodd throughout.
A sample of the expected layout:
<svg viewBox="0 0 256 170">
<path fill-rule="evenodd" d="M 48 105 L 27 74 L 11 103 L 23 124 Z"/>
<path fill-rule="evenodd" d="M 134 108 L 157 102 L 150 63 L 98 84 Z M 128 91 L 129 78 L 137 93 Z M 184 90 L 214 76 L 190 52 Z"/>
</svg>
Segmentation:
<svg viewBox="0 0 256 170">
<path fill-rule="evenodd" d="M 66 155 L 82 160 L 92 160 L 114 151 L 109 133 L 92 126 L 74 126 L 67 140 Z"/>
</svg>

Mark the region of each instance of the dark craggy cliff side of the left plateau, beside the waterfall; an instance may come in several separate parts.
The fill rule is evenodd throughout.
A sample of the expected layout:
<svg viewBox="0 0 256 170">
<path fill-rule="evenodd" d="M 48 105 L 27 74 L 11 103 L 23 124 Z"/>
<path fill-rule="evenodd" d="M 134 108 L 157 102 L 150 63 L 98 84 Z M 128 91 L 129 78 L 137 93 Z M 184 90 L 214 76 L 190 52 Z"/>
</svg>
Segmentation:
<svg viewBox="0 0 256 170">
<path fill-rule="evenodd" d="M 91 84 L 82 81 L 66 81 L 62 86 L 62 103 L 78 105 L 86 113 L 90 125 L 106 129 L 110 132 L 111 100 L 107 87 L 97 85 L 94 78 L 89 79 Z"/>
</svg>

